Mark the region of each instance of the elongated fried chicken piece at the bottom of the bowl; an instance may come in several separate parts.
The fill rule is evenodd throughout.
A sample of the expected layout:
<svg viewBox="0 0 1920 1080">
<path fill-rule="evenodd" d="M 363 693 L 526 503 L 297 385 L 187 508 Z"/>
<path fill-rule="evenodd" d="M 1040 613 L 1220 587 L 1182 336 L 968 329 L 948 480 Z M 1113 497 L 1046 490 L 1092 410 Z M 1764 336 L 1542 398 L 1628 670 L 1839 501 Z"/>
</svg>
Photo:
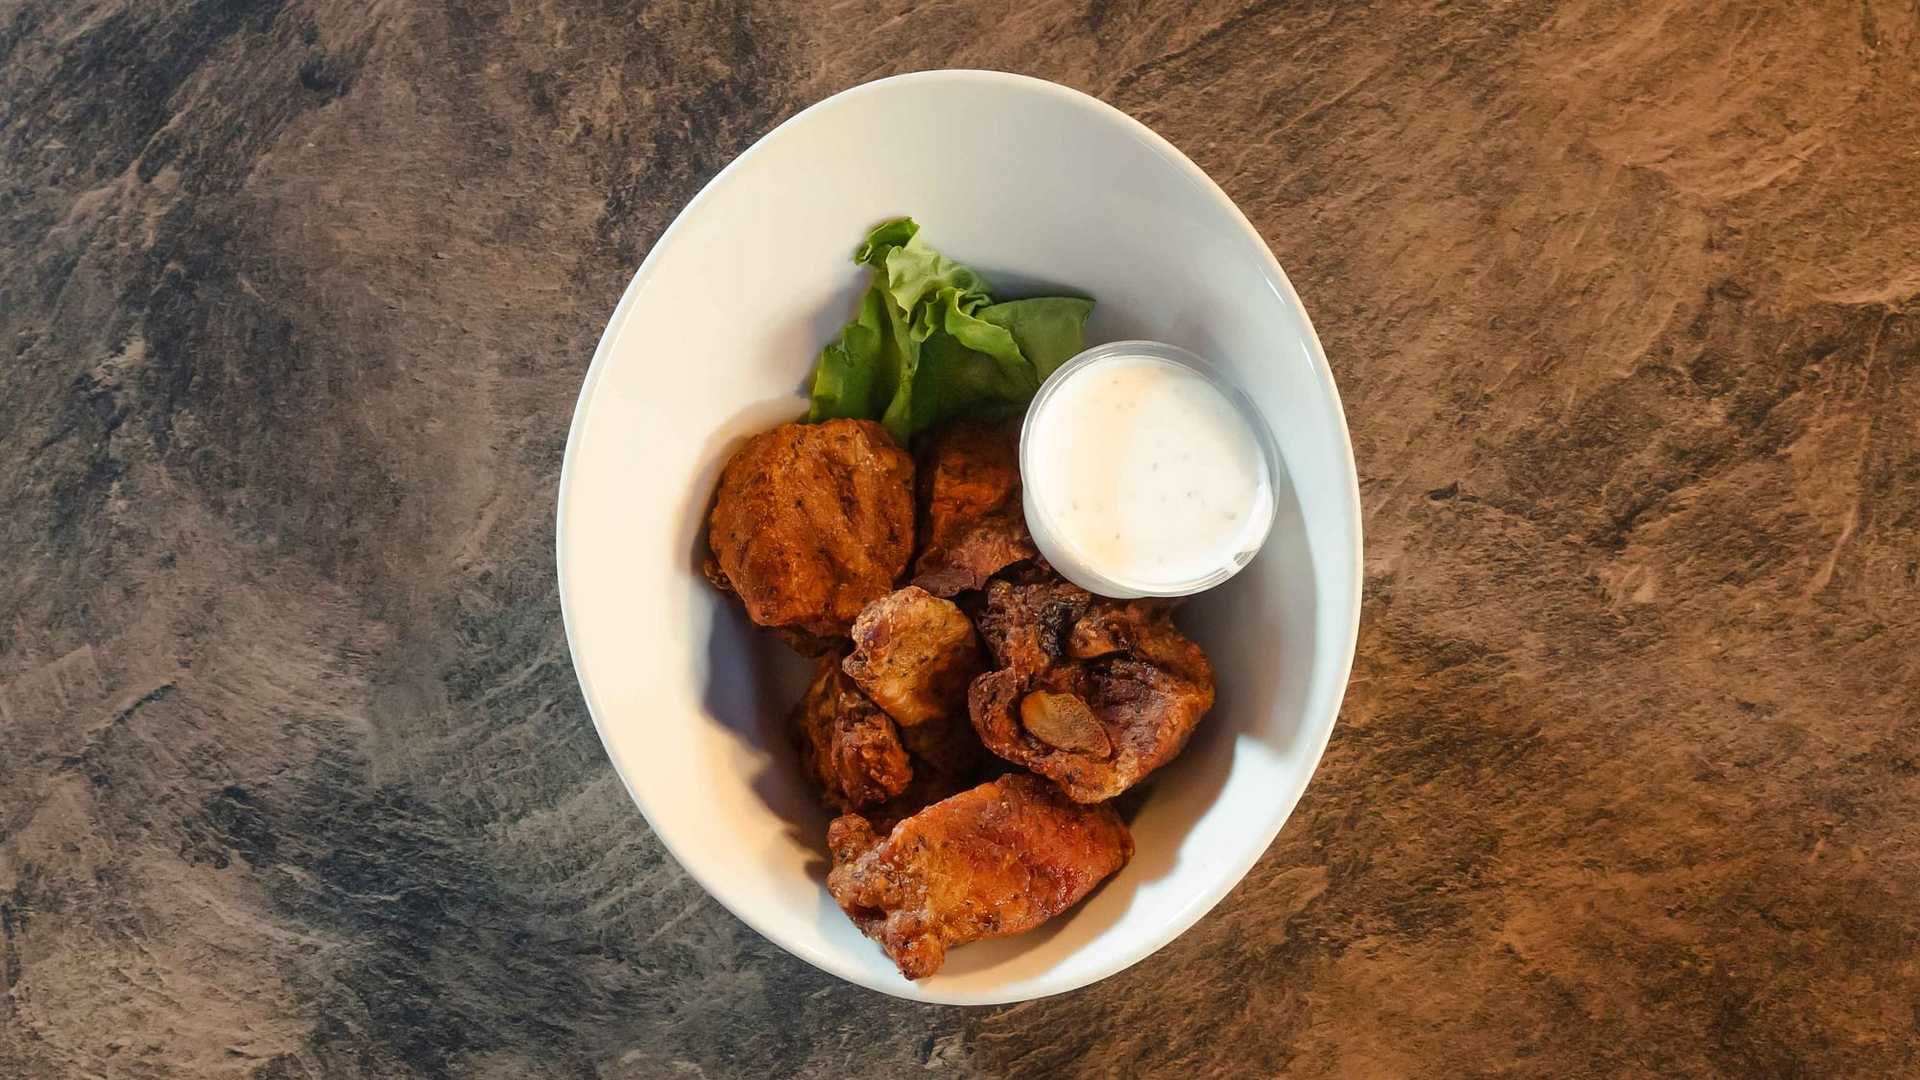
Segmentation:
<svg viewBox="0 0 1920 1080">
<path fill-rule="evenodd" d="M 1133 857 L 1108 805 L 1010 773 L 933 803 L 885 838 L 860 815 L 828 830 L 828 892 L 906 978 L 927 978 L 947 949 L 1031 930 L 1081 901 Z"/>
</svg>

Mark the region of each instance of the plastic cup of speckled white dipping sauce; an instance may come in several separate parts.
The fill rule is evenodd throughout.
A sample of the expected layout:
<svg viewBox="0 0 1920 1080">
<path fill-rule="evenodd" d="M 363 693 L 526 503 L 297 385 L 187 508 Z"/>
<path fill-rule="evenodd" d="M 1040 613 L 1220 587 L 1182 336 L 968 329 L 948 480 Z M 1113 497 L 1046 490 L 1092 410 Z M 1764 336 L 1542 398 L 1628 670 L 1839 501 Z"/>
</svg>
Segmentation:
<svg viewBox="0 0 1920 1080">
<path fill-rule="evenodd" d="M 1156 356 L 1062 371 L 1027 419 L 1021 473 L 1043 553 L 1108 596 L 1217 584 L 1273 523 L 1248 417 L 1208 377 Z"/>
</svg>

